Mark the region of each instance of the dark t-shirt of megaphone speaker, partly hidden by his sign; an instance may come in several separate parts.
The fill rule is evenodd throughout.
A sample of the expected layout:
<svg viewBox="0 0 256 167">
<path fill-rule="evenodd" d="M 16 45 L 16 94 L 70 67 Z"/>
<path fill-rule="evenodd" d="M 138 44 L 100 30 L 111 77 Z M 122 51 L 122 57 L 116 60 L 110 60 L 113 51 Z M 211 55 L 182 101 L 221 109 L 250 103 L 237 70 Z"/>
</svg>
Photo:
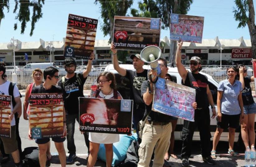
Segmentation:
<svg viewBox="0 0 256 167">
<path fill-rule="evenodd" d="M 142 86 L 141 86 L 141 96 L 142 97 L 143 97 L 143 94 L 146 93 L 147 89 L 148 89 L 148 82 L 144 81 L 142 83 Z M 152 104 L 153 104 L 153 101 L 151 102 L 150 105 L 146 105 L 145 104 L 146 105 L 146 110 L 145 110 L 144 116 L 147 115 L 150 112 L 150 114 L 148 116 L 148 121 L 153 121 L 153 122 L 171 122 L 171 120 L 173 119 L 172 116 L 152 111 Z"/>
</svg>

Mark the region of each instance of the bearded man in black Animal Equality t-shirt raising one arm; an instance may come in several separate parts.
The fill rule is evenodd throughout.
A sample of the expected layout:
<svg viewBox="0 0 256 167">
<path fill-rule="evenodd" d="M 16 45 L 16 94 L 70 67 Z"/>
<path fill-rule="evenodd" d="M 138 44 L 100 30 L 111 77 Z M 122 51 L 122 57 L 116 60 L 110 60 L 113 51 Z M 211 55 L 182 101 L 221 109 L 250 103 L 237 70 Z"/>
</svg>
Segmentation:
<svg viewBox="0 0 256 167">
<path fill-rule="evenodd" d="M 73 58 L 66 58 L 63 62 L 67 74 L 59 80 L 58 85 L 63 89 L 64 97 L 64 108 L 66 111 L 66 121 L 67 121 L 67 142 L 69 157 L 67 159 L 67 164 L 73 163 L 76 156 L 76 146 L 74 143 L 74 131 L 75 131 L 75 121 L 79 123 L 79 103 L 78 97 L 84 97 L 83 95 L 83 85 L 87 79 L 89 72 L 92 69 L 92 60 L 94 59 L 94 53 L 91 54 L 88 60 L 87 68 L 83 73 L 75 73 L 77 64 Z M 89 140 L 88 133 L 84 133 L 84 140 L 88 148 L 89 153 Z"/>
</svg>

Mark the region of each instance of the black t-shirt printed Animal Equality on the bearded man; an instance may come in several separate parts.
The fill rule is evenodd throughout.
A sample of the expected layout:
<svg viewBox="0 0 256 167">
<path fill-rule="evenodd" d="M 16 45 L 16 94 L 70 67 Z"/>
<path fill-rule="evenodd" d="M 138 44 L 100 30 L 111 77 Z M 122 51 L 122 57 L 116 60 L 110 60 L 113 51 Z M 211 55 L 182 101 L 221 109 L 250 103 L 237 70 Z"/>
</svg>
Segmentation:
<svg viewBox="0 0 256 167">
<path fill-rule="evenodd" d="M 81 86 L 79 86 L 76 73 L 72 78 L 65 78 L 64 88 L 62 86 L 62 79 L 59 80 L 58 85 L 63 89 L 64 107 L 66 114 L 78 114 L 79 113 L 79 102 L 78 97 L 84 97 L 83 85 L 86 78 L 83 78 L 82 73 L 78 73 L 78 77 L 81 80 Z"/>
</svg>

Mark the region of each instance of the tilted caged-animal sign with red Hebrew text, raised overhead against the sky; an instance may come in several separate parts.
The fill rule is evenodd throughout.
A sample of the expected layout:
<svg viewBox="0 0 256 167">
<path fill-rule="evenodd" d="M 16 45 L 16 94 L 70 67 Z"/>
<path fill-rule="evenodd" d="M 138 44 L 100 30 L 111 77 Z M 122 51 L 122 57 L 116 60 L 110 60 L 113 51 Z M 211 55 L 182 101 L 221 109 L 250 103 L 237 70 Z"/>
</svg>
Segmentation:
<svg viewBox="0 0 256 167">
<path fill-rule="evenodd" d="M 97 19 L 69 14 L 64 57 L 89 59 L 94 50 Z"/>
</svg>

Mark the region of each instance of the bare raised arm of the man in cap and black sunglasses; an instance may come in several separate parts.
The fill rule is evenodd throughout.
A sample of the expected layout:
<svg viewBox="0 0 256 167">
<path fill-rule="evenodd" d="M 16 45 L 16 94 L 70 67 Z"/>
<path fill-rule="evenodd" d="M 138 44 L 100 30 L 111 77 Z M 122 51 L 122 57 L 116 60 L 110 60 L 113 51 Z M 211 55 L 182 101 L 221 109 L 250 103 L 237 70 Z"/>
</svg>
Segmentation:
<svg viewBox="0 0 256 167">
<path fill-rule="evenodd" d="M 178 72 L 183 80 L 183 82 L 186 80 L 187 77 L 187 69 L 184 67 L 184 65 L 181 63 L 181 47 L 182 47 L 183 42 L 179 41 L 178 46 L 177 46 L 177 51 L 176 51 L 176 56 L 175 56 L 175 63 L 176 67 L 178 68 Z"/>
</svg>

